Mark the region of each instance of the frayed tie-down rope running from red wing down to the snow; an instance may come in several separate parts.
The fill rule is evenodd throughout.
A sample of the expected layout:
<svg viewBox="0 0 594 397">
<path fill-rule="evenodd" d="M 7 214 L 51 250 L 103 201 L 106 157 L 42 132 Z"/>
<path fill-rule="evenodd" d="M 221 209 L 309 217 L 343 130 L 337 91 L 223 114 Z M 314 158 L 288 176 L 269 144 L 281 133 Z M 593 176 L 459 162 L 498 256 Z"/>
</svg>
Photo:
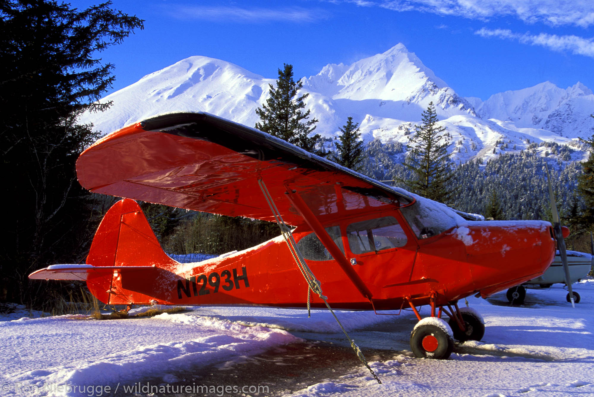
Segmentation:
<svg viewBox="0 0 594 397">
<path fill-rule="evenodd" d="M 283 234 L 283 238 L 285 239 L 285 242 L 289 246 L 289 251 L 293 256 L 293 259 L 295 259 L 295 262 L 297 263 L 299 270 L 301 270 L 301 274 L 304 276 L 305 281 L 307 281 L 307 284 L 308 284 L 308 289 L 307 289 L 308 317 L 310 315 L 310 313 L 309 313 L 309 311 L 310 311 L 310 308 L 309 308 L 310 292 L 314 291 L 316 294 L 318 294 L 320 296 L 320 298 L 324 301 L 324 303 L 328 307 L 328 310 L 330 310 L 330 313 L 332 313 L 332 316 L 334 316 L 334 320 L 336 320 L 336 322 L 339 324 L 340 329 L 342 329 L 342 332 L 345 333 L 346 339 L 348 339 L 350 342 L 350 347 L 353 348 L 353 350 L 355 351 L 355 354 L 357 355 L 357 357 L 359 358 L 361 363 L 365 364 L 365 367 L 367 367 L 367 369 L 372 374 L 372 376 L 375 378 L 375 380 L 377 380 L 377 383 L 381 383 L 380 378 L 378 378 L 377 375 L 375 374 L 375 372 L 371 369 L 371 367 L 369 367 L 369 364 L 367 363 L 367 360 L 365 359 L 365 356 L 363 355 L 361 348 L 359 348 L 359 346 L 357 346 L 355 344 L 355 341 L 350 339 L 349 334 L 346 333 L 345 327 L 342 326 L 338 317 L 336 317 L 336 314 L 334 314 L 334 310 L 332 310 L 332 308 L 328 304 L 328 301 L 327 301 L 328 298 L 326 296 L 324 296 L 324 294 L 322 292 L 320 281 L 318 281 L 318 279 L 315 278 L 314 273 L 311 271 L 311 269 L 309 269 L 309 266 L 307 266 L 307 263 L 305 263 L 305 259 L 301 255 L 301 251 L 299 251 L 299 248 L 297 247 L 295 239 L 293 238 L 293 234 L 291 233 L 289 226 L 287 226 L 285 221 L 283 220 L 283 217 L 280 215 L 279 209 L 277 209 L 276 204 L 274 204 L 274 200 L 270 196 L 270 193 L 268 192 L 268 189 L 266 188 L 266 184 L 264 184 L 264 181 L 262 179 L 258 179 L 258 185 L 260 185 L 260 189 L 262 190 L 262 193 L 264 194 L 264 197 L 266 198 L 266 202 L 268 203 L 268 206 L 270 206 L 270 210 L 272 211 L 274 218 L 276 219 L 276 223 L 278 223 L 278 225 L 280 227 L 280 231 Z M 324 230 L 324 228 L 322 228 L 322 230 L 324 232 L 326 232 Z M 328 237 L 328 238 L 330 238 L 330 237 Z M 333 244 L 334 244 L 334 242 L 333 242 Z M 334 245 L 334 246 L 336 247 L 336 245 Z"/>
</svg>

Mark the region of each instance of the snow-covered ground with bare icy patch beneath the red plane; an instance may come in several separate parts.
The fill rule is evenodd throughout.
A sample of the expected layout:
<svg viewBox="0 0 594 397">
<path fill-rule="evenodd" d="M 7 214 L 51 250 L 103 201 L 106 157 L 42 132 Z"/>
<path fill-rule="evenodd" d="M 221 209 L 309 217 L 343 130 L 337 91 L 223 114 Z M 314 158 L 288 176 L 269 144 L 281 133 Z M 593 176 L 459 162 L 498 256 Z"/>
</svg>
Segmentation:
<svg viewBox="0 0 594 397">
<path fill-rule="evenodd" d="M 141 319 L 8 320 L 0 322 L 0 396 L 594 395 L 594 279 L 574 290 L 582 296 L 575 309 L 557 285 L 528 289 L 521 307 L 508 305 L 505 292 L 469 298 L 485 336 L 457 344 L 446 361 L 412 357 L 410 312 L 337 312 L 381 385 L 348 351 L 328 311 L 308 319 L 304 310 L 201 307 Z M 190 389 L 139 389 L 146 385 Z"/>
</svg>

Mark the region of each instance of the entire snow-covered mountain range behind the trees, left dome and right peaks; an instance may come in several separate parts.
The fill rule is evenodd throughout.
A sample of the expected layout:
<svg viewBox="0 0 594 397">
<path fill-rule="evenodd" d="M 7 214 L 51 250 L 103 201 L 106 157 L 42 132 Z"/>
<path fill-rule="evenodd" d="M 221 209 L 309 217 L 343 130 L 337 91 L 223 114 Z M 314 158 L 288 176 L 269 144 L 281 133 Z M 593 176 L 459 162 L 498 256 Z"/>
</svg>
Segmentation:
<svg viewBox="0 0 594 397">
<path fill-rule="evenodd" d="M 406 146 L 415 124 L 421 124 L 421 113 L 433 102 L 457 163 L 519 152 L 545 141 L 571 144 L 577 150 L 571 160 L 579 160 L 584 153 L 572 138 L 589 137 L 594 127 L 589 117 L 594 94 L 583 84 L 563 90 L 542 83 L 495 94 L 485 102 L 464 99 L 402 44 L 352 65 L 326 65 L 301 81 L 303 93 L 309 93 L 307 108 L 319 120 L 315 132 L 326 137 L 336 137 L 352 116 L 365 141 L 378 138 Z M 226 61 L 192 56 L 106 96 L 103 100 L 113 106 L 102 114 L 84 114 L 81 121 L 110 133 L 165 112 L 203 111 L 252 127 L 258 121 L 255 109 L 275 82 Z"/>
</svg>

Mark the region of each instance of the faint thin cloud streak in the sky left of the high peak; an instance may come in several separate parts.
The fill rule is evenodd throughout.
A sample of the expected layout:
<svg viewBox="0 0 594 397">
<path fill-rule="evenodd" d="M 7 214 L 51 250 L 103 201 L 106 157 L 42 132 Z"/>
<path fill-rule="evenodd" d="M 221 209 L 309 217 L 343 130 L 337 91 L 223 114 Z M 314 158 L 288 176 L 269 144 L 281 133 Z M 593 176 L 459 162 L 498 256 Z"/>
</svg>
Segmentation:
<svg viewBox="0 0 594 397">
<path fill-rule="evenodd" d="M 178 5 L 175 10 L 169 8 L 169 14 L 176 18 L 213 21 L 238 21 L 243 23 L 262 22 L 313 22 L 327 17 L 320 10 L 305 8 L 241 8 L 241 7 L 208 7 L 203 5 Z"/>
</svg>

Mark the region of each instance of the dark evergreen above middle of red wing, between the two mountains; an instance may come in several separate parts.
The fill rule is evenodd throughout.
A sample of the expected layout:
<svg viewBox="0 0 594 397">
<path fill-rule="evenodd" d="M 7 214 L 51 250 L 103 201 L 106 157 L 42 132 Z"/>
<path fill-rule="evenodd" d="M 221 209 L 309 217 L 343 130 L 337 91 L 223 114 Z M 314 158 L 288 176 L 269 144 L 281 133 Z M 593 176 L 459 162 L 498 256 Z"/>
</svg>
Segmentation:
<svg viewBox="0 0 594 397">
<path fill-rule="evenodd" d="M 303 83 L 301 81 L 295 83 L 293 80 L 293 65 L 284 65 L 283 70 L 279 69 L 276 88 L 268 84 L 270 97 L 266 100 L 266 105 L 256 109 L 260 122 L 256 123 L 255 128 L 308 152 L 322 154 L 315 150 L 315 144 L 321 138 L 320 134 L 309 137 L 309 133 L 315 130 L 315 123 L 318 120 L 315 118 L 308 120 L 309 110 L 305 113 L 302 111 L 305 108 L 304 99 L 309 94 L 298 96 Z"/>
</svg>

